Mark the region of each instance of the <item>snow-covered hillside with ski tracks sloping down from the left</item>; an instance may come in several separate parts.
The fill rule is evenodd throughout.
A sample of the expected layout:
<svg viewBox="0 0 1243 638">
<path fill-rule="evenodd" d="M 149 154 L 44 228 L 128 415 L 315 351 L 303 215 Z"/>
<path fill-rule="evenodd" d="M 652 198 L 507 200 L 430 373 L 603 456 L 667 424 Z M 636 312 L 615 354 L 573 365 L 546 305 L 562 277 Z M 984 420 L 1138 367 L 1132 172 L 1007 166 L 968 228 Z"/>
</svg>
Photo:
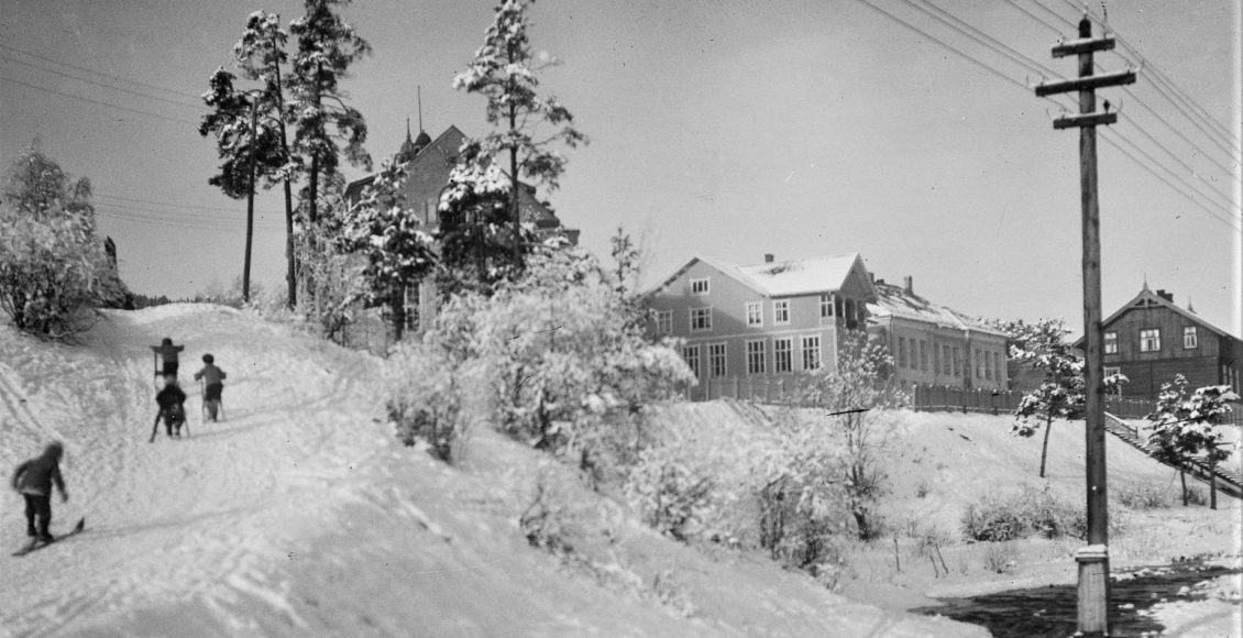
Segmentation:
<svg viewBox="0 0 1243 638">
<path fill-rule="evenodd" d="M 191 435 L 149 444 L 148 346 L 165 336 L 185 344 Z M 229 373 L 224 423 L 199 419 L 189 378 L 205 352 Z M 71 500 L 53 501 L 53 532 L 87 519 L 63 543 L 0 555 L 0 633 L 983 636 L 706 556 L 607 502 L 613 560 L 558 561 L 516 525 L 541 455 L 481 432 L 464 471 L 401 446 L 380 374 L 378 359 L 216 306 L 108 312 L 81 346 L 0 327 L 0 468 L 61 439 Z M 21 517 L 6 492 L 5 548 L 25 542 Z"/>
</svg>

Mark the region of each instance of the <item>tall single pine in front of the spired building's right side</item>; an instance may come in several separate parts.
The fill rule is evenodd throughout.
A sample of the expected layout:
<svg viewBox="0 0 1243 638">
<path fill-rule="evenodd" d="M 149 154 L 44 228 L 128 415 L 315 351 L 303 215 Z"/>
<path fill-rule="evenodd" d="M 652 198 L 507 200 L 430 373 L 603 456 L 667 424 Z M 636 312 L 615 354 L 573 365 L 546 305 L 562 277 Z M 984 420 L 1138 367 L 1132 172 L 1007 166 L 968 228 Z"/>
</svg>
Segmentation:
<svg viewBox="0 0 1243 638">
<path fill-rule="evenodd" d="M 493 126 L 491 133 L 470 142 L 477 150 L 462 154 L 464 162 L 454 179 L 466 185 L 475 183 L 481 193 L 490 192 L 501 178 L 501 168 L 496 163 L 502 160 L 502 154 L 507 155 L 511 236 L 518 238 L 522 235 L 520 180 L 527 179 L 537 187 L 556 190 L 566 170 L 566 158 L 552 146 L 563 143 L 574 148 L 587 142 L 574 128 L 574 117 L 556 97 L 541 98 L 536 93 L 539 85 L 536 75 L 556 60 L 544 52 L 531 52 L 527 35 L 530 5 L 521 0 L 502 0 L 485 31 L 484 45 L 475 51 L 475 58 L 466 65 L 466 70 L 454 77 L 454 88 L 480 93 L 487 99 L 487 122 Z M 491 224 L 484 216 L 476 219 Z M 521 267 L 523 243 L 515 241 L 511 251 L 515 267 Z"/>
</svg>

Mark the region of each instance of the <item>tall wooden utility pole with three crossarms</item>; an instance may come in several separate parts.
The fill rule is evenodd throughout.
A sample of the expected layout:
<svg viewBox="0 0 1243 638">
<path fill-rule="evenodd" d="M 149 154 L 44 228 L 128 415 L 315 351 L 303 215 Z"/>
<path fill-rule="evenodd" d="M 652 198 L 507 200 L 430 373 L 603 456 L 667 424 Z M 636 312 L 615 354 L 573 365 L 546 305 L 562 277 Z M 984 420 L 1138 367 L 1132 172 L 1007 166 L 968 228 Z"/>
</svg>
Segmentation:
<svg viewBox="0 0 1243 638">
<path fill-rule="evenodd" d="M 1109 499 L 1105 473 L 1104 359 L 1100 335 L 1100 206 L 1096 201 L 1096 127 L 1117 122 L 1117 113 L 1096 111 L 1096 88 L 1130 85 L 1134 71 L 1093 75 L 1093 52 L 1114 49 L 1111 36 L 1093 39 L 1091 22 L 1079 21 L 1079 39 L 1053 47 L 1053 57 L 1079 56 L 1079 77 L 1042 82 L 1038 97 L 1079 92 L 1079 114 L 1059 117 L 1053 128 L 1079 128 L 1079 182 L 1083 204 L 1084 391 L 1086 393 L 1088 546 L 1079 563 L 1079 621 L 1075 636 L 1109 636 Z"/>
</svg>

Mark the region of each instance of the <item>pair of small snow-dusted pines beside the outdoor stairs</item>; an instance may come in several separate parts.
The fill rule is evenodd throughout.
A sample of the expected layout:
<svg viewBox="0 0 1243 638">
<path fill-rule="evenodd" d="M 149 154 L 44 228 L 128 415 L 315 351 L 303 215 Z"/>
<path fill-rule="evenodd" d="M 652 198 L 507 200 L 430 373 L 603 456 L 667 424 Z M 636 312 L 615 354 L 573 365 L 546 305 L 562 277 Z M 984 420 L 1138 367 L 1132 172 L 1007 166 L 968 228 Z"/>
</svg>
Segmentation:
<svg viewBox="0 0 1243 638">
<path fill-rule="evenodd" d="M 1163 460 L 1178 465 L 1182 479 L 1182 505 L 1187 506 L 1186 465 L 1203 454 L 1209 470 L 1209 507 L 1217 509 L 1217 463 L 1229 458 L 1223 435 L 1216 429 L 1228 422 L 1229 402 L 1239 400 L 1229 386 L 1204 386 L 1187 394 L 1187 378 L 1177 374 L 1172 383 L 1161 384 L 1157 407 L 1149 414 L 1154 423 L 1149 445 Z"/>
</svg>

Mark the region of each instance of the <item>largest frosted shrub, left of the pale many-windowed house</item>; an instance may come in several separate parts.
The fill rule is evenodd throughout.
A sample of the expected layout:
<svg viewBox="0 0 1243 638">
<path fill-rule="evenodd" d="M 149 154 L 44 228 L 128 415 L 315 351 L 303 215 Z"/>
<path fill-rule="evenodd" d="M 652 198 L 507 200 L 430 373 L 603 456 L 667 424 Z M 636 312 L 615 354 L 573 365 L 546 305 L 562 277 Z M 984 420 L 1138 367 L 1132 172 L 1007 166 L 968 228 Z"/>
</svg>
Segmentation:
<svg viewBox="0 0 1243 638">
<path fill-rule="evenodd" d="M 469 321 L 502 430 L 587 464 L 633 451 L 607 428 L 641 418 L 692 376 L 672 348 L 625 321 L 623 301 L 594 257 L 551 249 L 475 303 Z"/>
</svg>

